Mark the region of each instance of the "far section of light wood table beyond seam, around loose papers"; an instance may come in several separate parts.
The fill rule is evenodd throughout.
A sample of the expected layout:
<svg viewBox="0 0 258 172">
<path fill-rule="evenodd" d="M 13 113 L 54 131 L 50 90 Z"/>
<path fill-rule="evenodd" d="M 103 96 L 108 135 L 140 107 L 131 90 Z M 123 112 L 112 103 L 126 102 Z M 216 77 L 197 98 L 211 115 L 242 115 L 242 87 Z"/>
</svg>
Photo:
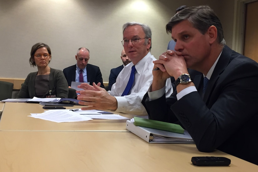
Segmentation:
<svg viewBox="0 0 258 172">
<path fill-rule="evenodd" d="M 0 120 L 0 130 L 44 130 L 44 131 L 124 131 L 126 119 L 93 119 L 90 121 L 56 123 L 28 117 L 31 113 L 43 113 L 43 106 L 33 103 L 6 102 Z M 83 106 L 67 106 L 66 109 L 78 109 Z M 115 113 L 133 118 L 133 115 Z"/>
</svg>

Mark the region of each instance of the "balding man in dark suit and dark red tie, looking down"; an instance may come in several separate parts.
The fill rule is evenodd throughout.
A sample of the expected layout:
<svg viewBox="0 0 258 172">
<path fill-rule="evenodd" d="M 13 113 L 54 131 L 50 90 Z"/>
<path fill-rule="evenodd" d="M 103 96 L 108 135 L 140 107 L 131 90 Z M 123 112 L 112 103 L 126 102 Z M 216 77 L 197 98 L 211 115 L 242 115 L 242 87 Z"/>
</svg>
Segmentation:
<svg viewBox="0 0 258 172">
<path fill-rule="evenodd" d="M 88 64 L 89 62 L 89 49 L 79 48 L 77 55 L 75 56 L 77 64 L 63 69 L 63 74 L 67 80 L 69 86 L 72 81 L 75 82 L 89 82 L 90 85 L 93 83 L 101 83 L 100 87 L 104 88 L 102 74 L 98 66 Z M 83 79 L 80 80 L 80 74 Z"/>
</svg>

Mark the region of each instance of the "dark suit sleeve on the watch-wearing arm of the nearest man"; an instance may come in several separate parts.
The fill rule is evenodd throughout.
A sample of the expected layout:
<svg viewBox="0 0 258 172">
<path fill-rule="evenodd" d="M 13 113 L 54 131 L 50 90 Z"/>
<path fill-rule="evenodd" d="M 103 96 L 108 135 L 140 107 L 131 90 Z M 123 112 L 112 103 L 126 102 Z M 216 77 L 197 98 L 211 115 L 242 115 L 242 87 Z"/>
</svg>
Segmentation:
<svg viewBox="0 0 258 172">
<path fill-rule="evenodd" d="M 206 103 L 198 92 L 192 92 L 176 101 L 171 109 L 190 133 L 197 148 L 210 152 L 233 134 L 240 133 L 243 126 L 243 129 L 250 127 L 248 124 L 252 124 L 252 118 L 257 117 L 257 85 L 256 63 L 233 63 L 220 75 Z M 246 134 L 238 137 L 244 139 Z"/>
</svg>

